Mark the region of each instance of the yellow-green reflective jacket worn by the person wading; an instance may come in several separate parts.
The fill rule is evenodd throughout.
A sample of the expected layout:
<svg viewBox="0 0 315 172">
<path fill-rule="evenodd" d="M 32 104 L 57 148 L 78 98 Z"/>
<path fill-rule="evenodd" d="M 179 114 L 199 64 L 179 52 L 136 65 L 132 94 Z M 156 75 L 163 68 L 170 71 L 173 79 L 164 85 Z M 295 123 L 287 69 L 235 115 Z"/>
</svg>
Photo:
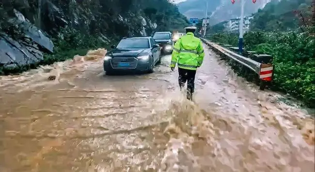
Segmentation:
<svg viewBox="0 0 315 172">
<path fill-rule="evenodd" d="M 170 67 L 197 70 L 205 57 L 201 40 L 194 37 L 192 32 L 180 37 L 174 45 Z"/>
</svg>

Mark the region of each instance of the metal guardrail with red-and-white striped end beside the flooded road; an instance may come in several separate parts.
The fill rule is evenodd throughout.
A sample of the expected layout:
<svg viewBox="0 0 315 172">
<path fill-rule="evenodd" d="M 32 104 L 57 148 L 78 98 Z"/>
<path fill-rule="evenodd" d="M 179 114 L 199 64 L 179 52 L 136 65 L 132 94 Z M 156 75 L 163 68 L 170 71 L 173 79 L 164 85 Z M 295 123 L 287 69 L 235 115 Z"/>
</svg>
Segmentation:
<svg viewBox="0 0 315 172">
<path fill-rule="evenodd" d="M 200 38 L 204 43 L 211 46 L 213 49 L 221 52 L 225 56 L 235 60 L 239 64 L 242 64 L 243 66 L 247 67 L 248 69 L 252 70 L 252 72 L 255 72 L 258 74 L 258 79 L 260 79 L 260 89 L 264 90 L 266 86 L 266 81 L 270 82 L 272 81 L 273 76 L 273 65 L 272 64 L 264 64 L 259 63 L 255 60 L 252 60 L 251 58 L 247 58 L 241 55 L 236 54 L 235 52 L 228 50 L 227 48 L 224 48 L 217 43 L 212 43 L 204 38 Z"/>
</svg>

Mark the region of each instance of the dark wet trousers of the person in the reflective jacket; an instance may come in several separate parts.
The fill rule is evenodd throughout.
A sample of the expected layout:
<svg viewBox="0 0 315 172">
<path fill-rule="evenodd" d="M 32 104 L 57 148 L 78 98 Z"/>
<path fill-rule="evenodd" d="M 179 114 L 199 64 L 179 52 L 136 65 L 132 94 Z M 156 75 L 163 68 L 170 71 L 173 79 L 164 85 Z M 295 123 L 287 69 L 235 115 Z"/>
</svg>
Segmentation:
<svg viewBox="0 0 315 172">
<path fill-rule="evenodd" d="M 178 68 L 178 83 L 180 90 L 185 86 L 187 81 L 187 99 L 191 100 L 192 93 L 195 89 L 195 70 Z"/>
</svg>

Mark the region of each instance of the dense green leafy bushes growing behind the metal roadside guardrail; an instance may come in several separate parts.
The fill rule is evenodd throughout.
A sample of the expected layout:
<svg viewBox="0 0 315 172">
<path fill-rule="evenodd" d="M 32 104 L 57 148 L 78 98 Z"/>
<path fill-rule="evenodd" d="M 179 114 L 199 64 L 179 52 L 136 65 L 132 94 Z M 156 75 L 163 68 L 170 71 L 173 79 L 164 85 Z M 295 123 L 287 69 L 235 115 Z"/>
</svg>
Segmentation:
<svg viewBox="0 0 315 172">
<path fill-rule="evenodd" d="M 210 40 L 232 45 L 237 35 L 212 35 Z M 228 40 L 231 39 L 231 40 Z M 262 32 L 244 34 L 244 46 L 273 57 L 274 79 L 271 89 L 284 91 L 315 107 L 315 36 L 306 32 Z"/>
</svg>

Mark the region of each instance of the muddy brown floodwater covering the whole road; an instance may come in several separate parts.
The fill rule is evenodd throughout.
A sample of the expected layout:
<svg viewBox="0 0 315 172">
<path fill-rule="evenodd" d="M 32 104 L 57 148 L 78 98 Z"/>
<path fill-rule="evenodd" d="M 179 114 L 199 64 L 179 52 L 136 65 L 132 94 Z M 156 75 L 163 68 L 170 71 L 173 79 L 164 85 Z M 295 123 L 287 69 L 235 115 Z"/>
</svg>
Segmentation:
<svg viewBox="0 0 315 172">
<path fill-rule="evenodd" d="M 210 50 L 194 103 L 171 56 L 151 74 L 107 76 L 102 54 L 1 76 L 1 172 L 314 172 L 314 119 Z"/>
</svg>

